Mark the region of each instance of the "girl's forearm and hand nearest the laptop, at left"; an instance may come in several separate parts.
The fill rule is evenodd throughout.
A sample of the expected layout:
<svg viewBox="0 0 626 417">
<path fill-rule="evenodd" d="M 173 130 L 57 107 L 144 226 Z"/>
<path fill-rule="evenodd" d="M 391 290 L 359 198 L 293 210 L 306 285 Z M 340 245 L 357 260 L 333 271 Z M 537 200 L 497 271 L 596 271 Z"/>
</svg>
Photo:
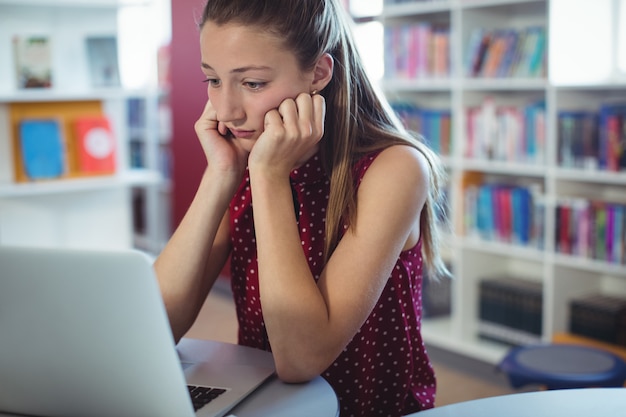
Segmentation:
<svg viewBox="0 0 626 417">
<path fill-rule="evenodd" d="M 217 122 L 210 102 L 195 125 L 207 158 L 196 195 L 154 268 L 176 342 L 189 330 L 230 252 L 228 204 L 247 153 Z"/>
</svg>

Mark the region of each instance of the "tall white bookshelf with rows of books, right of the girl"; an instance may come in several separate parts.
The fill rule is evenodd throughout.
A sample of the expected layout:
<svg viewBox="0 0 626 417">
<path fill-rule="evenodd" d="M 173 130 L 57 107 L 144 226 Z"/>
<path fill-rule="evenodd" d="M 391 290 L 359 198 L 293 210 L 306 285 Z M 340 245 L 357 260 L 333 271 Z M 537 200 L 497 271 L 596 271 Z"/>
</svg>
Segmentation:
<svg viewBox="0 0 626 417">
<path fill-rule="evenodd" d="M 584 60 L 585 54 L 589 54 L 594 62 L 587 65 L 593 67 L 596 61 L 601 61 L 596 60 L 593 50 L 597 49 L 597 44 L 583 45 L 581 35 L 572 34 L 571 27 L 565 27 L 562 22 L 568 19 L 554 23 L 555 16 L 562 15 L 564 10 L 571 12 L 570 17 L 589 16 L 589 10 L 585 9 L 591 7 L 589 3 L 563 0 L 388 0 L 383 3 L 377 19 L 384 25 L 385 42 L 393 37 L 397 39 L 399 32 L 410 32 L 406 28 L 420 25 L 439 28 L 449 36 L 447 73 L 420 73 L 403 61 L 401 53 L 393 56 L 397 45 L 386 43 L 386 75 L 381 80 L 381 88 L 392 104 L 406 106 L 410 103 L 419 109 L 445 111 L 452 120 L 449 153 L 442 156 L 449 172 L 449 212 L 454 229 L 447 239 L 445 254 L 455 278 L 451 286 L 451 313 L 423 321 L 424 338 L 432 345 L 489 363 L 500 361 L 509 346 L 478 336 L 480 287 L 490 278 L 512 276 L 540 284 L 543 305 L 539 339 L 545 342 L 551 341 L 555 334 L 568 331 L 569 304 L 576 297 L 588 293 L 626 297 L 624 259 L 615 262 L 598 259 L 593 253 L 585 256 L 563 253 L 558 239 L 557 207 L 560 203 L 597 200 L 626 204 L 626 168 L 609 171 L 592 167 L 593 163 L 592 166 L 564 166 L 559 159 L 560 114 L 574 111 L 598 114 L 603 105 L 626 103 L 626 70 L 619 70 L 615 59 L 604 72 L 594 68 L 579 71 L 583 75 L 602 75 L 593 80 L 576 79 L 572 71 L 555 63 L 556 59 L 562 59 L 565 53 L 562 51 L 575 50 L 573 42 L 579 45 L 578 60 Z M 602 5 L 598 3 L 594 7 L 618 7 L 618 2 L 600 3 Z M 605 13 L 620 15 L 615 10 Z M 620 24 L 615 19 L 609 19 L 616 26 L 610 33 L 612 37 Z M 587 20 L 577 22 L 568 24 L 582 27 Z M 475 62 L 472 66 L 474 57 L 470 50 L 474 50 L 475 32 L 510 34 L 513 31 L 519 35 L 528 28 L 540 28 L 544 37 L 544 61 L 535 61 L 534 70 L 514 71 L 510 63 L 509 69 L 500 69 L 500 73 L 494 69 L 496 67 L 480 71 L 476 70 Z M 596 29 L 585 26 L 585 33 L 595 36 L 593 30 Z M 598 35 L 596 39 L 601 37 Z M 615 54 L 619 46 L 612 48 L 611 53 Z M 621 48 L 624 48 L 623 43 Z M 433 60 L 435 58 L 431 58 L 431 64 Z M 477 120 L 484 123 L 476 125 L 479 139 L 470 128 L 474 126 L 470 122 L 476 114 L 480 115 Z M 485 133 L 484 126 L 493 126 L 485 120 L 500 120 L 501 126 L 509 130 Z M 534 134 L 532 137 L 520 136 L 521 133 L 513 135 L 518 140 L 524 138 L 522 149 L 519 143 L 510 141 L 511 129 Z M 533 145 L 528 145 L 531 142 Z M 522 187 L 530 191 L 534 203 L 532 218 L 540 221 L 529 231 L 532 237 L 527 243 L 520 242 L 517 236 L 498 234 L 499 230 L 487 229 L 491 232 L 487 233 L 473 224 L 478 217 L 470 208 L 478 207 L 476 201 L 482 198 L 479 187 L 483 184 Z M 504 211 L 490 212 L 487 217 L 502 217 Z M 515 229 L 508 230 L 515 232 Z M 575 234 L 576 229 L 571 233 Z"/>
</svg>

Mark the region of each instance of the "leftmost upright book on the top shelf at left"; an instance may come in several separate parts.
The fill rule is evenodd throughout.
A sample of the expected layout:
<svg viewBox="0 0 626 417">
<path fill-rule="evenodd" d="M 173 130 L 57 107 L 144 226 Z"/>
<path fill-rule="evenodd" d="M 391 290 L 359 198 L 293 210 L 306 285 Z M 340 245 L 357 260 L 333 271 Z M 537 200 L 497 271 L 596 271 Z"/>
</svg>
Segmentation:
<svg viewBox="0 0 626 417">
<path fill-rule="evenodd" d="M 45 35 L 13 37 L 17 87 L 52 87 L 52 44 Z"/>
</svg>

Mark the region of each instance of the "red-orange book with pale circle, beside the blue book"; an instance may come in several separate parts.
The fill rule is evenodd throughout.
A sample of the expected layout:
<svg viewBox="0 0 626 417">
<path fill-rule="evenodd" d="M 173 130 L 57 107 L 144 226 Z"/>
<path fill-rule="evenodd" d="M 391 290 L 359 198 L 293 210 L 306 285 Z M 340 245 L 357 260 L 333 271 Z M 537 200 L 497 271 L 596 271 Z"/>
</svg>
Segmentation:
<svg viewBox="0 0 626 417">
<path fill-rule="evenodd" d="M 79 171 L 115 173 L 115 137 L 105 116 L 81 116 L 74 122 L 78 140 Z"/>
</svg>

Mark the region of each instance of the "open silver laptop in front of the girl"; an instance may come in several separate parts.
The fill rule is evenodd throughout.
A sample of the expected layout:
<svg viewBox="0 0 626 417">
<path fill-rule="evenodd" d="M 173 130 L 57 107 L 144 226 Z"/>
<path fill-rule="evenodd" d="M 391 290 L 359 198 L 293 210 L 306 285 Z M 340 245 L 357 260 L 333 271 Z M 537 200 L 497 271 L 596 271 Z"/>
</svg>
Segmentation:
<svg viewBox="0 0 626 417">
<path fill-rule="evenodd" d="M 217 417 L 275 370 L 243 346 L 195 356 L 176 350 L 147 255 L 0 246 L 2 415 Z M 189 385 L 215 398 L 194 410 Z"/>
</svg>

